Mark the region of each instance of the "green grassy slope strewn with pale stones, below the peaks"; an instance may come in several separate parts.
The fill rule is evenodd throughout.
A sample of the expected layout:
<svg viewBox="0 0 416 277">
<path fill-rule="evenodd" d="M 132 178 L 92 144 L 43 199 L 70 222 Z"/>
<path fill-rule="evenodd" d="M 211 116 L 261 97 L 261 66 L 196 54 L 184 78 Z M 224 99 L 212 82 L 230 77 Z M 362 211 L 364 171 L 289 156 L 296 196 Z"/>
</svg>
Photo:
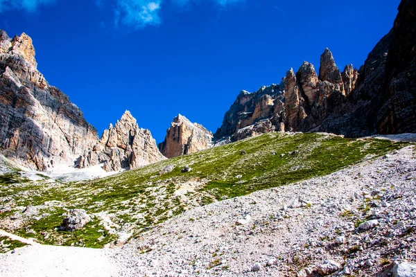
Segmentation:
<svg viewBox="0 0 416 277">
<path fill-rule="evenodd" d="M 116 232 L 139 235 L 188 208 L 327 175 L 405 145 L 408 143 L 271 133 L 92 181 L 60 184 L 45 179 L 16 184 L 16 173 L 0 179 L 0 208 L 6 197 L 13 206 L 12 211 L 0 213 L 0 228 L 49 244 L 102 247 L 116 239 Z M 159 175 L 167 165 L 175 169 Z M 184 166 L 193 170 L 182 173 Z M 25 219 L 15 229 L 1 225 L 28 204 L 44 204 L 40 206 L 44 216 Z M 83 230 L 55 231 L 68 208 L 85 208 L 97 216 Z M 113 226 L 104 228 L 103 213 Z"/>
</svg>

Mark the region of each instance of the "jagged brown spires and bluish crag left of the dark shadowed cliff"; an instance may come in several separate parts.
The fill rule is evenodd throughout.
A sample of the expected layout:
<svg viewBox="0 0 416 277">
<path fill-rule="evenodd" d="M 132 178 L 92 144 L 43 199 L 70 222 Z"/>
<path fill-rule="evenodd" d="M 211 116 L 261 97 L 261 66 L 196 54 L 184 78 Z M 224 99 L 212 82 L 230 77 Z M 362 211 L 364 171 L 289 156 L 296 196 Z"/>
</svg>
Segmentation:
<svg viewBox="0 0 416 277">
<path fill-rule="evenodd" d="M 281 84 L 243 91 L 225 114 L 215 137 L 232 141 L 262 132 L 318 130 L 325 118 L 343 113 L 356 87 L 358 71 L 352 65 L 341 73 L 326 49 L 320 59 L 320 75 L 313 64 L 304 62 L 295 73 L 286 73 Z"/>
</svg>

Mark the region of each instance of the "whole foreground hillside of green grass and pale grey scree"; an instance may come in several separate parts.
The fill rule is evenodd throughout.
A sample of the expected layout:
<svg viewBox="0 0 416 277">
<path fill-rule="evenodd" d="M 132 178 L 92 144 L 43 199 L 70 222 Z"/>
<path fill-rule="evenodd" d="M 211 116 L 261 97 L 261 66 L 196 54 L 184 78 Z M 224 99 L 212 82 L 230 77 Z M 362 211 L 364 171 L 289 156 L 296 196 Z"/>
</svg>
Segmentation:
<svg viewBox="0 0 416 277">
<path fill-rule="evenodd" d="M 10 168 L 0 175 L 0 229 L 115 247 L 113 276 L 369 276 L 415 261 L 414 147 L 270 133 L 92 181 L 32 181 Z M 64 219 L 76 229 L 62 230 Z M 20 255 L 51 251 L 15 247 L 0 244 L 5 276 L 30 265 L 17 265 Z M 102 260 L 89 257 L 88 269 Z"/>
</svg>

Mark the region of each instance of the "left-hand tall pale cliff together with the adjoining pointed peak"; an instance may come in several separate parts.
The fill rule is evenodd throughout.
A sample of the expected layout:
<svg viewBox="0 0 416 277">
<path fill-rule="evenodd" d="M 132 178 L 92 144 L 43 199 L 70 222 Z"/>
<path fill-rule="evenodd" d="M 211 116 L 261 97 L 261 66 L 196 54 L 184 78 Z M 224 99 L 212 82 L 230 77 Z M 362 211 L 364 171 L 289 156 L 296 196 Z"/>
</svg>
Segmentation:
<svg viewBox="0 0 416 277">
<path fill-rule="evenodd" d="M 26 34 L 10 39 L 0 30 L 1 154 L 38 170 L 74 163 L 120 170 L 164 159 L 150 132 L 127 112 L 98 140 L 80 109 L 36 66 L 32 39 Z"/>
</svg>

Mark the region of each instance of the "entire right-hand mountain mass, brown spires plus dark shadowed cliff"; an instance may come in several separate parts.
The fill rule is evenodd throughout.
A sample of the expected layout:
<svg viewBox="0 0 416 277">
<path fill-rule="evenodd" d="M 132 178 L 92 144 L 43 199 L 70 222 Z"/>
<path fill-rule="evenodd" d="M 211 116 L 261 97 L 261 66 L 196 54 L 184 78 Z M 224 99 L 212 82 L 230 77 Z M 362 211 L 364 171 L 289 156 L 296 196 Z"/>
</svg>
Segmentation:
<svg viewBox="0 0 416 277">
<path fill-rule="evenodd" d="M 236 141 L 273 130 L 350 137 L 416 132 L 415 10 L 415 1 L 401 1 L 394 27 L 359 71 L 349 65 L 341 73 L 326 49 L 319 75 L 304 62 L 296 73 L 288 71 L 279 85 L 242 91 L 215 138 L 231 136 Z"/>
</svg>

